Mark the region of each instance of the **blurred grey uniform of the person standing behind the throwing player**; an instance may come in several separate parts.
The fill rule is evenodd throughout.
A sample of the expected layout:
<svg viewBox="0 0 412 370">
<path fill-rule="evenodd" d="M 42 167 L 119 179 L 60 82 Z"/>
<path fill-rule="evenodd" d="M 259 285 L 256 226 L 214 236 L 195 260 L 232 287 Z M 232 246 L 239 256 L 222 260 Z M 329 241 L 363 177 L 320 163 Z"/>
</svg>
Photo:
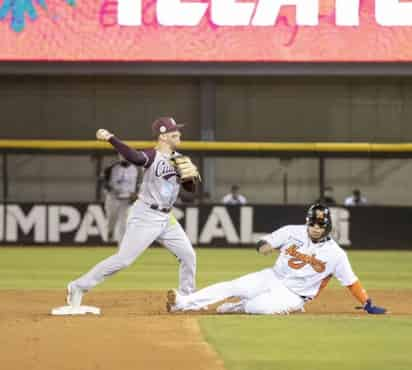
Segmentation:
<svg viewBox="0 0 412 370">
<path fill-rule="evenodd" d="M 135 197 L 139 168 L 127 161 L 117 161 L 104 170 L 105 200 L 109 241 L 120 241 L 126 231 L 130 203 Z"/>
</svg>

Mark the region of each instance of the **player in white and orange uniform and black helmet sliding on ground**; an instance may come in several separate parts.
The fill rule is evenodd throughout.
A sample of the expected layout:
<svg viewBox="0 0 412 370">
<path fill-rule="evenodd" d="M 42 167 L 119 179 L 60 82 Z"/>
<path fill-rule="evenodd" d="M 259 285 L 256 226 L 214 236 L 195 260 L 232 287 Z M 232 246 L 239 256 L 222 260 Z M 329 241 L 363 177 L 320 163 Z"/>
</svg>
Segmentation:
<svg viewBox="0 0 412 370">
<path fill-rule="evenodd" d="M 353 273 L 346 253 L 329 236 L 332 229 L 330 211 L 321 204 L 312 205 L 306 225 L 284 226 L 258 242 L 264 255 L 278 249 L 273 268 L 218 283 L 183 296 L 168 291 L 168 311 L 201 310 L 229 297 L 239 302 L 223 303 L 217 311 L 249 314 L 283 314 L 303 311 L 305 302 L 314 299 L 332 276 L 346 286 L 370 314 L 383 314 L 374 306 Z"/>
</svg>

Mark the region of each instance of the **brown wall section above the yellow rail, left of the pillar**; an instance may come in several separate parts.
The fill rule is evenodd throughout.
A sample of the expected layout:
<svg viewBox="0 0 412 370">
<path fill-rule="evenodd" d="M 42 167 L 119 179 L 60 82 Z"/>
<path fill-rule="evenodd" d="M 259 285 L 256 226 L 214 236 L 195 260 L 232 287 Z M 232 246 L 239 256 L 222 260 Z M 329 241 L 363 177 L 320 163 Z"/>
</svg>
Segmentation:
<svg viewBox="0 0 412 370">
<path fill-rule="evenodd" d="M 145 140 L 155 118 L 173 115 L 191 123 L 185 135 L 194 139 L 198 102 L 198 83 L 183 78 L 2 77 L 0 137 L 90 140 L 105 127 Z"/>
</svg>

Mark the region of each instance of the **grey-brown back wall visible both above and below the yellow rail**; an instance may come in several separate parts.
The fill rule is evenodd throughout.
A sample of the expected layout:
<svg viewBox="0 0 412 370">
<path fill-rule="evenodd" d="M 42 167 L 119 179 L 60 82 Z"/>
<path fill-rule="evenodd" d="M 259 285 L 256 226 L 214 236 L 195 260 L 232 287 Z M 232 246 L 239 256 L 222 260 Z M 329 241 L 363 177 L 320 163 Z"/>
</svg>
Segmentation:
<svg viewBox="0 0 412 370">
<path fill-rule="evenodd" d="M 412 142 L 412 79 L 217 78 L 216 138 L 240 141 Z M 200 137 L 199 79 L 139 77 L 2 77 L 0 138 L 93 139 L 105 127 L 124 139 L 150 139 L 150 123 L 173 115 Z M 108 162 L 110 158 L 106 158 Z M 240 184 L 251 202 L 289 203 L 318 196 L 318 161 L 215 160 L 219 200 Z M 327 185 L 342 202 L 354 187 L 373 204 L 411 205 L 409 160 L 327 160 Z M 95 197 L 89 156 L 9 157 L 10 200 L 73 201 Z"/>
</svg>

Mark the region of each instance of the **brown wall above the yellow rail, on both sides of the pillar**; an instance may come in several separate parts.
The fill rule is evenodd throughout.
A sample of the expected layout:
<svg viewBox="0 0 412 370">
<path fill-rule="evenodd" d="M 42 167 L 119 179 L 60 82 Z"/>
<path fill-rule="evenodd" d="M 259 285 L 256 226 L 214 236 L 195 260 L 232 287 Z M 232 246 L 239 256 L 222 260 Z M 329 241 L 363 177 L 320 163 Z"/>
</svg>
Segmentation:
<svg viewBox="0 0 412 370">
<path fill-rule="evenodd" d="M 210 77 L 209 77 L 210 78 Z M 150 139 L 160 115 L 200 138 L 201 78 L 2 76 L 1 137 Z M 412 141 L 411 77 L 216 77 L 216 140 Z M 389 129 L 390 128 L 390 129 Z"/>
</svg>

